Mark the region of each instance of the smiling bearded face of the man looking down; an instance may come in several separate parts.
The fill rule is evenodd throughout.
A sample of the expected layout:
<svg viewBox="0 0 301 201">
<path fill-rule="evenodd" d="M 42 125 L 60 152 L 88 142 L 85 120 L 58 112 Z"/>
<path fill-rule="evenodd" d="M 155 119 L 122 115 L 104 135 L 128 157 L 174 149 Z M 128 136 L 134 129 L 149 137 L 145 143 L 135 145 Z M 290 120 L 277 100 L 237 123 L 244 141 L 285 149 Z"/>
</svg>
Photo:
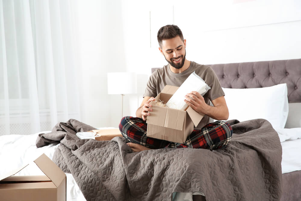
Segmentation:
<svg viewBox="0 0 301 201">
<path fill-rule="evenodd" d="M 162 48 L 159 47 L 159 50 L 172 67 L 180 69 L 183 67 L 185 62 L 185 48 L 186 39 L 183 42 L 180 36 L 176 36 L 172 39 L 162 40 Z"/>
</svg>

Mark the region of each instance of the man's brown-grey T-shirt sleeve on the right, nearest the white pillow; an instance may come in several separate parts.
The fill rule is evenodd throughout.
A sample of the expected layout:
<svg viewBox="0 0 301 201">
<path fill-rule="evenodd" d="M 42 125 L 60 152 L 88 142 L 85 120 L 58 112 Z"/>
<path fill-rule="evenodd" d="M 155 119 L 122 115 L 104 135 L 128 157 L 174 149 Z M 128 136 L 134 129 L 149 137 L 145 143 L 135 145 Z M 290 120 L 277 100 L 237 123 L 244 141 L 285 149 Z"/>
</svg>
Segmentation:
<svg viewBox="0 0 301 201">
<path fill-rule="evenodd" d="M 204 77 L 206 83 L 211 87 L 211 89 L 207 92 L 207 96 L 210 101 L 217 99 L 218 97 L 225 96 L 222 86 L 219 83 L 219 79 L 211 67 L 206 69 Z"/>
</svg>

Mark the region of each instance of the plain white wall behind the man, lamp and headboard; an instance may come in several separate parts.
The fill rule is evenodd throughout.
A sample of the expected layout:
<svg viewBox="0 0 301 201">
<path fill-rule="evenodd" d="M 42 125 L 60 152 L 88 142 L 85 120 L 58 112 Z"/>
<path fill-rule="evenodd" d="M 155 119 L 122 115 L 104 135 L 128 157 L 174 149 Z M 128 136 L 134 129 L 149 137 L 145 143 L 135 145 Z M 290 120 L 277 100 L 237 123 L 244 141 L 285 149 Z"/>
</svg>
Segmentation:
<svg viewBox="0 0 301 201">
<path fill-rule="evenodd" d="M 200 64 L 294 59 L 301 58 L 300 10 L 294 0 L 80 2 L 83 121 L 118 126 L 120 95 L 107 95 L 107 72 L 138 74 L 138 93 L 123 102 L 123 115 L 135 116 L 151 68 L 167 63 L 158 50 L 160 27 L 177 24 L 186 58 Z"/>
</svg>

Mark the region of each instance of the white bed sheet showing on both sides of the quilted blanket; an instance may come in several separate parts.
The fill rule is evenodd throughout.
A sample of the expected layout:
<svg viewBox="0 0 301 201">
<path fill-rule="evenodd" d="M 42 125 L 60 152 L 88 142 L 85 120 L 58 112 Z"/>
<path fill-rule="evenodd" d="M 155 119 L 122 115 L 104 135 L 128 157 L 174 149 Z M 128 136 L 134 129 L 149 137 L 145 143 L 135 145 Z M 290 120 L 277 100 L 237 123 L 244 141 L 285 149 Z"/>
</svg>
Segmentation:
<svg viewBox="0 0 301 201">
<path fill-rule="evenodd" d="M 99 129 L 109 129 L 104 127 Z M 49 133 L 43 131 L 39 133 Z M 0 136 L 0 175 L 18 168 L 25 164 L 29 165 L 16 175 L 43 175 L 44 173 L 33 162 L 40 155 L 45 153 L 50 159 L 53 158 L 55 149 L 59 143 L 51 143 L 48 146 L 36 148 L 36 138 L 39 133 L 32 135 L 4 135 Z M 85 133 L 78 133 L 81 137 Z M 89 133 L 91 134 L 91 133 Z M 82 138 L 82 137 L 81 137 Z M 90 137 L 88 137 L 90 138 Z M 282 173 L 301 170 L 301 138 L 281 142 L 282 146 Z M 85 198 L 76 184 L 72 174 L 67 176 L 67 201 L 85 201 Z"/>
</svg>

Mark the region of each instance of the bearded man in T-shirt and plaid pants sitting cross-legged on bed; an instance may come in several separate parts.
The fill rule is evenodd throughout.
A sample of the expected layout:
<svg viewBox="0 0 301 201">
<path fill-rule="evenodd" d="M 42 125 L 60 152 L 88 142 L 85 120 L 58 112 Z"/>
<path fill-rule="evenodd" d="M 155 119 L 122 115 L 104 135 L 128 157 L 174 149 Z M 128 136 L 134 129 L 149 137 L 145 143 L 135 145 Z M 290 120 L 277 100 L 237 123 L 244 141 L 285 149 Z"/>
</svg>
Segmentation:
<svg viewBox="0 0 301 201">
<path fill-rule="evenodd" d="M 186 59 L 186 39 L 176 25 L 161 27 L 157 34 L 159 50 L 168 64 L 157 69 L 149 78 L 141 106 L 136 111 L 137 117 L 124 117 L 119 124 L 123 137 L 129 141 L 127 145 L 134 152 L 158 148 L 203 148 L 218 149 L 228 145 L 232 136 L 230 124 L 223 121 L 209 123 L 209 117 L 216 120 L 227 120 L 229 116 L 225 101 L 225 94 L 219 80 L 211 67 L 197 64 Z M 198 126 L 187 137 L 184 144 L 146 136 L 146 118 L 151 115 L 150 102 L 163 90 L 165 85 L 181 86 L 186 78 L 196 72 L 210 87 L 208 92 L 201 96 L 192 91 L 183 97 L 191 108 L 204 114 Z M 209 105 L 209 100 L 214 106 Z"/>
</svg>

